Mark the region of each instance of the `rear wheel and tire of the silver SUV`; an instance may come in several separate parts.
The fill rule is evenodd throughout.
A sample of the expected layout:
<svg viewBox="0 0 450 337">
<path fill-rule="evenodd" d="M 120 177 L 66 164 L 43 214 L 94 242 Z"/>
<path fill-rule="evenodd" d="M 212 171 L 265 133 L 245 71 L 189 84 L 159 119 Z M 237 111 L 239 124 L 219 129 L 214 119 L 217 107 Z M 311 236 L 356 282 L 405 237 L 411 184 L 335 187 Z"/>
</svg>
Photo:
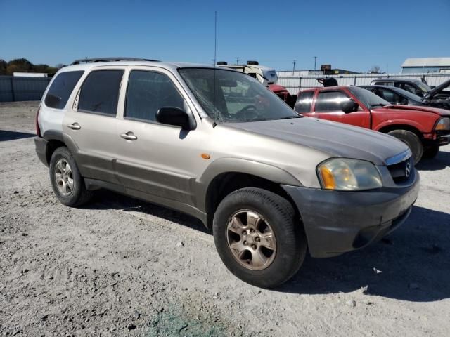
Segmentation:
<svg viewBox="0 0 450 337">
<path fill-rule="evenodd" d="M 91 199 L 92 192 L 86 190 L 77 163 L 67 147 L 58 147 L 53 152 L 49 173 L 53 192 L 62 204 L 81 206 Z"/>
</svg>

